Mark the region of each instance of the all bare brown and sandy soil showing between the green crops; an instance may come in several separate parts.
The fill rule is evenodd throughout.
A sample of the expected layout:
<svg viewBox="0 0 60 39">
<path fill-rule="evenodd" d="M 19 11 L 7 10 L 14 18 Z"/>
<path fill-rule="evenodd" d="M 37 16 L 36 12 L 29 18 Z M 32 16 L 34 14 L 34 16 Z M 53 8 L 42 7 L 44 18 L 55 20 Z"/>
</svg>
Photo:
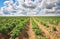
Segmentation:
<svg viewBox="0 0 60 39">
<path fill-rule="evenodd" d="M 47 29 L 45 26 L 39 23 L 34 17 L 30 18 L 29 22 L 27 22 L 27 24 L 25 25 L 25 29 L 22 30 L 21 35 L 19 35 L 15 39 L 37 39 L 32 29 L 32 20 L 34 20 L 34 22 L 38 25 L 39 29 L 43 32 L 44 36 L 46 36 L 48 39 L 60 39 L 60 23 L 56 26 L 57 31 L 52 31 L 52 33 L 50 33 L 52 25 L 48 24 L 50 28 Z M 4 35 L 1 33 L 0 39 L 5 39 Z M 10 37 L 8 39 L 12 38 Z"/>
</svg>

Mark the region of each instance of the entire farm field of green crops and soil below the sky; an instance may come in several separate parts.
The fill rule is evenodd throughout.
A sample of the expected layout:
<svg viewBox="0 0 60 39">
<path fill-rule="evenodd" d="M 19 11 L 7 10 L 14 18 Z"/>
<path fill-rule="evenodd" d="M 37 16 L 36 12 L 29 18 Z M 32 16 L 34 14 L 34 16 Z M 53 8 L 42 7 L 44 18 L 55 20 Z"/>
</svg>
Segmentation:
<svg viewBox="0 0 60 39">
<path fill-rule="evenodd" d="M 60 17 L 0 17 L 0 39 L 60 39 Z"/>
</svg>

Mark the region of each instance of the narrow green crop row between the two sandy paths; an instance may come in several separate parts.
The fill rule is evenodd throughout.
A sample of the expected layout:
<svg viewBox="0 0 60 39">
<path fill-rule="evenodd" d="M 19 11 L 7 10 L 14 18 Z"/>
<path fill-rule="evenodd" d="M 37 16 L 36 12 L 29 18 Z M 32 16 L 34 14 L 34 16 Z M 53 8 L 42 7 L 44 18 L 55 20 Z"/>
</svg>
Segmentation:
<svg viewBox="0 0 60 39">
<path fill-rule="evenodd" d="M 43 32 L 39 29 L 38 25 L 32 20 L 32 29 L 36 34 L 37 39 L 47 39 Z"/>
</svg>

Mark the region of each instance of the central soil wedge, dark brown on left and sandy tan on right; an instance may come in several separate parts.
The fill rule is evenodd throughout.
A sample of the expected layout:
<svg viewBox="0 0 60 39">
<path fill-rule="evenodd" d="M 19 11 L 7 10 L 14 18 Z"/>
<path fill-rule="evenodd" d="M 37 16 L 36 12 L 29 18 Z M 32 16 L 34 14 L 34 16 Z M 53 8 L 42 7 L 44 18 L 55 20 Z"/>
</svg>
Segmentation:
<svg viewBox="0 0 60 39">
<path fill-rule="evenodd" d="M 25 29 L 22 31 L 21 35 L 19 37 L 16 37 L 15 39 L 36 39 L 32 29 L 31 19 L 26 24 Z"/>
</svg>

